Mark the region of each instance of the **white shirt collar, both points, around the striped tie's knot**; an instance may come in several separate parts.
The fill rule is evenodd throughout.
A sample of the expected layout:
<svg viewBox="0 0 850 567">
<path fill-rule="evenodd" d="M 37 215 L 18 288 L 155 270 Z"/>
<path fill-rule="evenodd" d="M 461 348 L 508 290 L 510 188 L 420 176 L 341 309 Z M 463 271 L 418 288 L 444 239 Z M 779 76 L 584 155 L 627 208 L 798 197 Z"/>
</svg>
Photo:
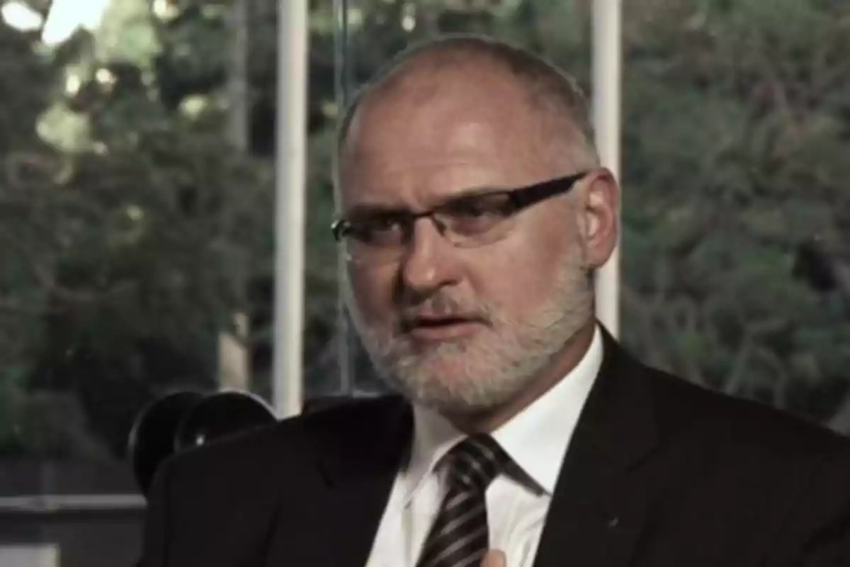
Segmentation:
<svg viewBox="0 0 850 567">
<path fill-rule="evenodd" d="M 602 333 L 597 326 L 587 352 L 562 380 L 493 432 L 519 468 L 547 494 L 552 495 L 561 462 L 570 445 L 575 424 L 602 366 Z M 401 478 L 405 505 L 440 459 L 465 437 L 437 412 L 413 408 L 411 456 Z"/>
</svg>

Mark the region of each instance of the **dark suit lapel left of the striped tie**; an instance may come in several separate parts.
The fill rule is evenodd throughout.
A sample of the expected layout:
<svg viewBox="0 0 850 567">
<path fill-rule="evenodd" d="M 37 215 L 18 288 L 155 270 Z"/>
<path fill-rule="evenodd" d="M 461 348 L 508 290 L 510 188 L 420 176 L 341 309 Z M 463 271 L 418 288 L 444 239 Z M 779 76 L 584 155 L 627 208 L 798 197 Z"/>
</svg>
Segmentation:
<svg viewBox="0 0 850 567">
<path fill-rule="evenodd" d="M 299 500 L 300 513 L 280 507 L 268 567 L 362 567 L 382 519 L 401 459 L 410 443 L 410 407 L 391 397 L 361 411 L 357 422 L 313 428 L 317 483 Z M 378 405 L 379 404 L 379 405 Z M 354 421 L 354 420 L 351 420 Z M 346 425 L 348 430 L 341 431 Z M 297 492 L 293 489 L 292 492 Z"/>
</svg>

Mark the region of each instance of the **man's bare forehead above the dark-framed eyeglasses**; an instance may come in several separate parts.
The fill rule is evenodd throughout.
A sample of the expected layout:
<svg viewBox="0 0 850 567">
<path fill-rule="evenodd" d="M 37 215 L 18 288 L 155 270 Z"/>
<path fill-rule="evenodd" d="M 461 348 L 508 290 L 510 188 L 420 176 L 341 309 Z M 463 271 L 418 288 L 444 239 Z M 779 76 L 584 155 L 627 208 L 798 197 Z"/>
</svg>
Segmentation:
<svg viewBox="0 0 850 567">
<path fill-rule="evenodd" d="M 431 188 L 450 196 L 562 173 L 541 165 L 551 162 L 551 128 L 516 77 L 471 69 L 473 76 L 406 77 L 361 101 L 340 154 L 343 206 L 405 187 L 427 188 L 416 192 L 430 200 Z"/>
</svg>

